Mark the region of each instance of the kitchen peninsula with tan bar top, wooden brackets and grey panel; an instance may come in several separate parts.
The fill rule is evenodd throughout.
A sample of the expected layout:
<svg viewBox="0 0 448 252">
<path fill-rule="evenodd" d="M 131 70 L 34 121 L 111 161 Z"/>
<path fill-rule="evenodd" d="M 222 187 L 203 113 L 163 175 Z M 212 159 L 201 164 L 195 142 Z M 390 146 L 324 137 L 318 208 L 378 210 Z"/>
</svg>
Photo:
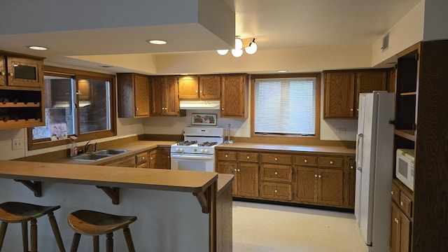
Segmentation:
<svg viewBox="0 0 448 252">
<path fill-rule="evenodd" d="M 0 161 L 0 178 L 1 202 L 61 205 L 55 217 L 66 248 L 73 235 L 66 218 L 78 209 L 137 216 L 130 226 L 137 251 L 223 251 L 229 246 L 226 242 L 231 248 L 233 176 L 223 174 L 218 179 L 214 172 Z M 29 181 L 42 197 L 34 197 L 19 181 Z M 119 204 L 113 204 L 107 192 Z M 230 220 L 222 221 L 221 215 Z M 57 251 L 51 233 L 45 232 L 50 230 L 48 222 L 38 220 L 38 227 L 39 251 Z M 230 230 L 230 237 L 221 230 Z M 114 238 L 116 251 L 125 251 L 123 235 Z M 13 251 L 17 244 L 21 244 L 20 225 L 10 225 L 3 247 Z M 91 245 L 90 239 L 81 239 L 80 251 L 88 251 Z"/>
</svg>

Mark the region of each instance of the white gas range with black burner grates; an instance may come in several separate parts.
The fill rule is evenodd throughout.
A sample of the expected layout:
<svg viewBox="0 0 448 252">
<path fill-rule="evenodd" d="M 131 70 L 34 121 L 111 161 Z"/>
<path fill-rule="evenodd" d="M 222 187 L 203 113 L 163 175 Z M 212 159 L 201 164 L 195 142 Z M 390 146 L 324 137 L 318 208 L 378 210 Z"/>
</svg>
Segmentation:
<svg viewBox="0 0 448 252">
<path fill-rule="evenodd" d="M 171 146 L 171 169 L 215 172 L 215 146 L 223 134 L 220 127 L 186 127 L 184 141 Z"/>
</svg>

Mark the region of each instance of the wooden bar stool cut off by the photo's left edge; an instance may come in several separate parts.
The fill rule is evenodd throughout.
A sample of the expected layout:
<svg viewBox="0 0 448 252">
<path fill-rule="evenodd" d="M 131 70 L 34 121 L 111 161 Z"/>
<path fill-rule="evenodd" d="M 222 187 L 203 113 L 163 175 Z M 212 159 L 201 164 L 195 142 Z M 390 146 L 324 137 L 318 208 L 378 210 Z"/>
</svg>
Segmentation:
<svg viewBox="0 0 448 252">
<path fill-rule="evenodd" d="M 53 211 L 59 209 L 60 206 L 44 207 L 35 204 L 27 204 L 22 202 L 4 202 L 0 204 L 0 251 L 5 239 L 6 228 L 8 223 L 22 223 L 22 241 L 23 251 L 28 252 L 28 221 L 31 222 L 31 252 L 37 252 L 37 218 L 48 215 L 50 219 L 53 234 L 55 234 L 59 251 L 64 251 L 61 234 L 57 227 L 56 218 Z"/>
</svg>

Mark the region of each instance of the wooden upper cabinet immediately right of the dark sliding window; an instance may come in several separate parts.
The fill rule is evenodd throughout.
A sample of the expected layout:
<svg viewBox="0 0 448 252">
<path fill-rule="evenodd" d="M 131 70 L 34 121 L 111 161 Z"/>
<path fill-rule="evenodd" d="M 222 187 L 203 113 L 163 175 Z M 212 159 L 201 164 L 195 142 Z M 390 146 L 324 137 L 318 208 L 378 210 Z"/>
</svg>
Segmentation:
<svg viewBox="0 0 448 252">
<path fill-rule="evenodd" d="M 118 73 L 118 117 L 149 116 L 149 77 L 137 73 Z"/>
</svg>

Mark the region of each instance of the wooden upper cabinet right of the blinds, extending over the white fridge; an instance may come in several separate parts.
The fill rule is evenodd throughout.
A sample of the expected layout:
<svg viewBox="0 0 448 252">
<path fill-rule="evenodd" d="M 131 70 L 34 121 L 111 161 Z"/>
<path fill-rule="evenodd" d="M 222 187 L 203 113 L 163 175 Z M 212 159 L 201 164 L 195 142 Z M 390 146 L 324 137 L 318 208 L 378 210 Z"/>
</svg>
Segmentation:
<svg viewBox="0 0 448 252">
<path fill-rule="evenodd" d="M 362 92 L 387 90 L 388 69 L 324 71 L 324 119 L 358 118 L 358 100 Z"/>
</svg>

